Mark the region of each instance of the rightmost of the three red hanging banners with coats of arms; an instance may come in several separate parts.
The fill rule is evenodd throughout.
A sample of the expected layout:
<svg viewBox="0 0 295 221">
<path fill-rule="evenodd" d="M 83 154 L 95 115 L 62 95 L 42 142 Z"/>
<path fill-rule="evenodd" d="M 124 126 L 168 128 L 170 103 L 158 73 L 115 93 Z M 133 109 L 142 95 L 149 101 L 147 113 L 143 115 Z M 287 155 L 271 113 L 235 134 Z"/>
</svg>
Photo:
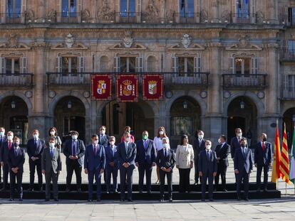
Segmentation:
<svg viewBox="0 0 295 221">
<path fill-rule="evenodd" d="M 163 97 L 163 76 L 143 75 L 143 99 L 162 99 Z"/>
</svg>

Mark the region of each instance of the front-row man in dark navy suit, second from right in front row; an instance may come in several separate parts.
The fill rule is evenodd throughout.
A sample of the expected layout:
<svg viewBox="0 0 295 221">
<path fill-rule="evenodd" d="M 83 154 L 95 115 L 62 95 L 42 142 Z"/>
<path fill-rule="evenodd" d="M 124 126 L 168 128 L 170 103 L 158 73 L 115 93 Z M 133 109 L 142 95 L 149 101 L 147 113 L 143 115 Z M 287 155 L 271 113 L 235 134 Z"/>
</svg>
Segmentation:
<svg viewBox="0 0 295 221">
<path fill-rule="evenodd" d="M 211 141 L 206 141 L 205 150 L 199 155 L 199 176 L 202 177 L 202 201 L 205 201 L 206 185 L 208 180 L 209 200 L 213 201 L 213 179 L 217 175 L 217 157 L 211 150 Z"/>
</svg>

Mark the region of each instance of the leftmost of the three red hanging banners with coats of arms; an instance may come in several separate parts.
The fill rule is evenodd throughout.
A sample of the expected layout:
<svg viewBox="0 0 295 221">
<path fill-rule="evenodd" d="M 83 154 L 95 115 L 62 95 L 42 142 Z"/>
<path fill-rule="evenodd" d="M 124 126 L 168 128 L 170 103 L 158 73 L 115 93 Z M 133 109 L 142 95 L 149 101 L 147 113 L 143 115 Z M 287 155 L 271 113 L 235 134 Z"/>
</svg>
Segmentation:
<svg viewBox="0 0 295 221">
<path fill-rule="evenodd" d="M 112 75 L 91 76 L 91 97 L 96 100 L 112 99 Z"/>
</svg>

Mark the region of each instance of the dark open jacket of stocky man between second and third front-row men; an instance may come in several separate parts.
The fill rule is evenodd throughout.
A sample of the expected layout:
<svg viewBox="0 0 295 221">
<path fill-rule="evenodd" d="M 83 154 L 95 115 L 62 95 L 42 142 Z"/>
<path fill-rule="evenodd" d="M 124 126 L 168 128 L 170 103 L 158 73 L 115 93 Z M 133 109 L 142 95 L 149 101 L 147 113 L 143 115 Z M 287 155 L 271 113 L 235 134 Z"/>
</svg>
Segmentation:
<svg viewBox="0 0 295 221">
<path fill-rule="evenodd" d="M 68 158 L 69 156 L 73 156 L 72 139 L 69 139 L 68 141 L 66 141 L 65 147 L 63 149 L 63 154 L 66 156 L 66 164 L 72 161 L 70 158 Z M 76 156 L 78 156 L 78 162 L 81 166 L 83 165 L 84 154 L 85 154 L 84 142 L 78 139 L 77 146 L 76 146 Z"/>
</svg>

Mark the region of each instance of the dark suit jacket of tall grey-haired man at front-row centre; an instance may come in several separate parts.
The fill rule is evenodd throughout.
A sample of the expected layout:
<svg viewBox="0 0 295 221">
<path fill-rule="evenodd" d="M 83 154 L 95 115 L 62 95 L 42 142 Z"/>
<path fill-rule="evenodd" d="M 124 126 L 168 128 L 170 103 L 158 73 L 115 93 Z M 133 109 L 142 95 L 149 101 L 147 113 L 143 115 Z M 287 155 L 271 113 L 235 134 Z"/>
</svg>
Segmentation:
<svg viewBox="0 0 295 221">
<path fill-rule="evenodd" d="M 118 159 L 120 161 L 119 168 L 123 167 L 123 163 L 129 163 L 130 166 L 135 168 L 135 158 L 136 158 L 136 144 L 129 142 L 128 153 L 126 154 L 125 142 L 118 145 Z"/>
</svg>

